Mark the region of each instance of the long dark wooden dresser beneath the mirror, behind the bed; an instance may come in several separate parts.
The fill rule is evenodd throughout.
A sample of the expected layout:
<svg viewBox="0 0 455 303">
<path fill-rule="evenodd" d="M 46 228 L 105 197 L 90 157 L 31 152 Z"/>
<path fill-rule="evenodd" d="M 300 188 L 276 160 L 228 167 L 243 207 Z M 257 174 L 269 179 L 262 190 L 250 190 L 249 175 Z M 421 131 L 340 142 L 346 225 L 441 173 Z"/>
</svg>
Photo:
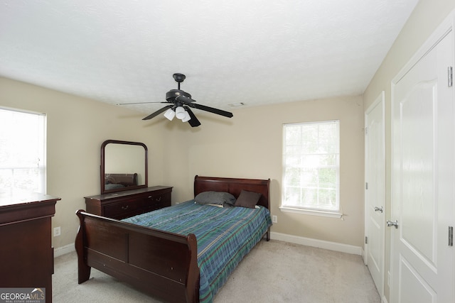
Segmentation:
<svg viewBox="0 0 455 303">
<path fill-rule="evenodd" d="M 137 214 L 171 206 L 172 187 L 154 186 L 85 197 L 87 212 L 112 219 L 124 219 Z"/>
</svg>

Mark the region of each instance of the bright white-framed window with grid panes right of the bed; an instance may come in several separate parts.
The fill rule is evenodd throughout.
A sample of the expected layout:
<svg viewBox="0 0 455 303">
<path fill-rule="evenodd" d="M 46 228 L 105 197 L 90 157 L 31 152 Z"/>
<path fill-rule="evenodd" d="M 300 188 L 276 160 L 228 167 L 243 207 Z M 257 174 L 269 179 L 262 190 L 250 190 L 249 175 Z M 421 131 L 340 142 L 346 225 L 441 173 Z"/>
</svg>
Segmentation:
<svg viewBox="0 0 455 303">
<path fill-rule="evenodd" d="M 283 126 L 283 211 L 339 214 L 340 121 Z"/>
</svg>

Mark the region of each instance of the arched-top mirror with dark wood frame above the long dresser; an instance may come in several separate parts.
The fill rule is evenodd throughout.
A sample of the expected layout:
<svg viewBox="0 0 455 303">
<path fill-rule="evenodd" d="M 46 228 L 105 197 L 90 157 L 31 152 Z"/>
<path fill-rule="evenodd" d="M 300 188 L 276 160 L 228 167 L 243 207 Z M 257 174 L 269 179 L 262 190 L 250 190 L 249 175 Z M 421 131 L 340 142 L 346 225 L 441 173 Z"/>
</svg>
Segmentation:
<svg viewBox="0 0 455 303">
<path fill-rule="evenodd" d="M 101 145 L 101 194 L 148 186 L 144 143 L 107 140 Z"/>
</svg>

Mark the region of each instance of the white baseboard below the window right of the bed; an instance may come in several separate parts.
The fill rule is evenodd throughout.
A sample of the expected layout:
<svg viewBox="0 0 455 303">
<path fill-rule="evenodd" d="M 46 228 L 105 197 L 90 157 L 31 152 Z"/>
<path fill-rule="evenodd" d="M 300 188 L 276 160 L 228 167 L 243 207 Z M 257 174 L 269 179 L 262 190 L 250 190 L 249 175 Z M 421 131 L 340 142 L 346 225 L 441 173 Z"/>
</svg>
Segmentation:
<svg viewBox="0 0 455 303">
<path fill-rule="evenodd" d="M 360 246 L 352 246 L 343 243 L 336 243 L 330 241 L 317 240 L 313 238 L 305 238 L 300 236 L 292 236 L 286 233 L 276 233 L 272 231 L 270 238 L 273 240 L 286 241 L 294 244 L 301 244 L 305 246 L 312 246 L 317 248 L 324 248 L 328 250 L 335 250 L 341 253 L 352 253 L 353 255 L 363 255 L 362 248 Z"/>
</svg>

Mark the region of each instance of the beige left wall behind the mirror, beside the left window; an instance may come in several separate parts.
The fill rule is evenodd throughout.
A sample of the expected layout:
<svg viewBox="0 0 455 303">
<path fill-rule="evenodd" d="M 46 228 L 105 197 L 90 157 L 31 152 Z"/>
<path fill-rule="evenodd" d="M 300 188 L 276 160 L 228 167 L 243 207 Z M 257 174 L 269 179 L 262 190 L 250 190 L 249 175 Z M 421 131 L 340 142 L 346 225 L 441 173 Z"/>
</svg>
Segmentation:
<svg viewBox="0 0 455 303">
<path fill-rule="evenodd" d="M 0 106 L 47 114 L 47 193 L 61 197 L 53 226 L 59 248 L 74 242 L 75 211 L 83 197 L 100 194 L 100 147 L 107 139 L 140 141 L 149 148 L 149 184 L 161 184 L 162 126 L 143 123 L 144 114 L 0 77 Z"/>
</svg>

